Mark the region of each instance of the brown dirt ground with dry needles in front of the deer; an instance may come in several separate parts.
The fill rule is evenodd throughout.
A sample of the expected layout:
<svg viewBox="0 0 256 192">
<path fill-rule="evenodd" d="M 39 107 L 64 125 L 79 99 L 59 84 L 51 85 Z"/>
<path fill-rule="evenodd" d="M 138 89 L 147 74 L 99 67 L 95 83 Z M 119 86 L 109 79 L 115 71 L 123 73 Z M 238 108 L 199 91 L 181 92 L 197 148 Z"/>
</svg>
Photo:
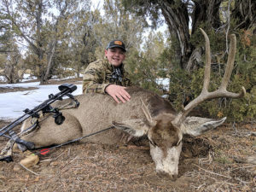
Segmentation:
<svg viewBox="0 0 256 192">
<path fill-rule="evenodd" d="M 7 124 L 0 120 L 0 128 Z M 84 140 L 40 154 L 29 169 L 19 165 L 23 154 L 15 153 L 14 162 L 0 162 L 0 191 L 256 191 L 256 165 L 247 162 L 256 155 L 255 136 L 251 122 L 184 137 L 175 181 L 156 174 L 145 141 L 134 148 Z M 0 149 L 7 141 L 0 137 Z"/>
</svg>

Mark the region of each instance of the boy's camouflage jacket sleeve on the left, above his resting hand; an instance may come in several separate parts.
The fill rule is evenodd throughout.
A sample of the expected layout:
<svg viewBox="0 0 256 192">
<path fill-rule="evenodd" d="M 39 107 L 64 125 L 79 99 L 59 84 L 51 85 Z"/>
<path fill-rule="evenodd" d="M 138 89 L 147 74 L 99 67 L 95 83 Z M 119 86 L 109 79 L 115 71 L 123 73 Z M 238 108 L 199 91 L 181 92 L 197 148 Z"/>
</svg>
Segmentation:
<svg viewBox="0 0 256 192">
<path fill-rule="evenodd" d="M 83 77 L 83 93 L 105 93 L 109 83 L 105 82 L 106 69 L 103 60 L 89 64 Z"/>
</svg>

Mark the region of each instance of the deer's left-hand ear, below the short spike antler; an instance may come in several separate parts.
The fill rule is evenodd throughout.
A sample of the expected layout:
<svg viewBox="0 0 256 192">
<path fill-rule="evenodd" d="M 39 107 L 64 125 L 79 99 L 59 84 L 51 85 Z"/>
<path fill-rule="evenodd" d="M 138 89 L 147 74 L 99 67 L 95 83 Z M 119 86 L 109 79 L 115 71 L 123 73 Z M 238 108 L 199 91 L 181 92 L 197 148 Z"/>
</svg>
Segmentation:
<svg viewBox="0 0 256 192">
<path fill-rule="evenodd" d="M 143 119 L 129 119 L 121 122 L 113 121 L 112 125 L 121 131 L 128 132 L 134 137 L 142 137 L 148 134 L 150 128 L 150 125 Z"/>
</svg>

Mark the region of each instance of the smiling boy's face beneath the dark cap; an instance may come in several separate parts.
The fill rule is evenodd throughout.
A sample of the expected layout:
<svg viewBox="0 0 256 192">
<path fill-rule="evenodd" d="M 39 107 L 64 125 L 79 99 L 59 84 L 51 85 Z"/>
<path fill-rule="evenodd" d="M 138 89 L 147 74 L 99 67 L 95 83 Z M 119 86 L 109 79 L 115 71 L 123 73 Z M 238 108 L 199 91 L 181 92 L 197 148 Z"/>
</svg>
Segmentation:
<svg viewBox="0 0 256 192">
<path fill-rule="evenodd" d="M 105 49 L 105 56 L 114 67 L 119 67 L 125 60 L 125 51 L 118 47 Z"/>
</svg>

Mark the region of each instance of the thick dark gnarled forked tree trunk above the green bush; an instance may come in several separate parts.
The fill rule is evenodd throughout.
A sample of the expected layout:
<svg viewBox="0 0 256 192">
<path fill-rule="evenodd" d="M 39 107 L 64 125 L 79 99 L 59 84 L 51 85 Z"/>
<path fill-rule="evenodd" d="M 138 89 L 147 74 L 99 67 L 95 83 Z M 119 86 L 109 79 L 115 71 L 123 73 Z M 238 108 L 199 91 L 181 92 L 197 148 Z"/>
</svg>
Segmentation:
<svg viewBox="0 0 256 192">
<path fill-rule="evenodd" d="M 177 55 L 180 58 L 180 67 L 190 71 L 196 65 L 201 64 L 201 49 L 195 49 L 190 43 L 189 32 L 189 12 L 188 2 L 183 1 L 161 1 L 160 9 L 165 17 L 167 26 L 171 34 L 175 34 L 179 42 Z M 191 13 L 191 34 L 199 28 L 201 24 L 207 24 L 214 29 L 220 26 L 219 6 L 221 0 L 200 0 L 193 1 L 194 11 Z M 200 62 L 200 63 L 198 63 Z"/>
</svg>

